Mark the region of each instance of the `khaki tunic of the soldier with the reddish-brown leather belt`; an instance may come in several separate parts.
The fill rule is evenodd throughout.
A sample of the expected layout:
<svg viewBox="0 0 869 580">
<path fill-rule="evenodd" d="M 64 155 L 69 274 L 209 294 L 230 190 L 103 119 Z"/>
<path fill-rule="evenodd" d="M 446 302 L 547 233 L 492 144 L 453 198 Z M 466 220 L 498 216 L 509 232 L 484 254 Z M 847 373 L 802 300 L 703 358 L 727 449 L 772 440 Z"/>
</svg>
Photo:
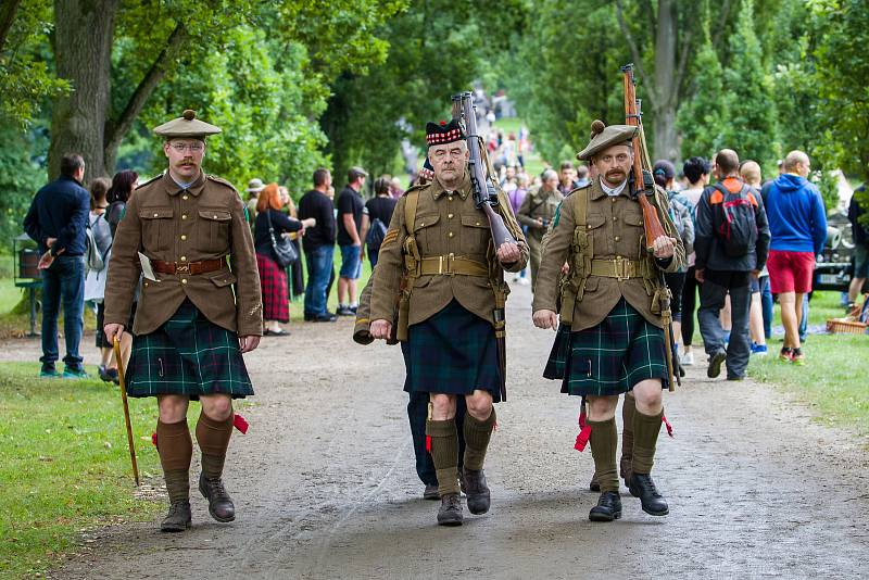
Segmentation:
<svg viewBox="0 0 869 580">
<path fill-rule="evenodd" d="M 105 286 L 105 324 L 126 325 L 141 266 L 138 252 L 152 262 L 177 265 L 225 260 L 221 270 L 191 275 L 156 274 L 144 280 L 133 331 L 160 328 L 189 299 L 212 323 L 239 336 L 263 333 L 260 275 L 244 203 L 227 181 L 200 174 L 182 190 L 168 172 L 139 187 L 127 202 L 115 234 Z"/>
</svg>

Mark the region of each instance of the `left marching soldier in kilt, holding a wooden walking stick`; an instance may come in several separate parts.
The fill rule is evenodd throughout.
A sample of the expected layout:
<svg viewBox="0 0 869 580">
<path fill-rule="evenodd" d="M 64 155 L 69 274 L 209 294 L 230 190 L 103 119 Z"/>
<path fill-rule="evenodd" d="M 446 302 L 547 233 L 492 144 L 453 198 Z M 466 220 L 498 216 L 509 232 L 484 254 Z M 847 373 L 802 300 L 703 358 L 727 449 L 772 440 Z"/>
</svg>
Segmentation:
<svg viewBox="0 0 869 580">
<path fill-rule="evenodd" d="M 244 203 L 227 181 L 202 172 L 205 138 L 221 129 L 193 111 L 154 129 L 164 139 L 167 171 L 139 187 L 117 227 L 105 292 L 110 342 L 133 332 L 127 394 L 156 396 L 156 447 L 166 480 L 166 532 L 190 527 L 187 428 L 190 400 L 202 412 L 199 490 L 217 521 L 235 505 L 222 475 L 232 431 L 232 399 L 253 394 L 242 354 L 260 343 L 260 276 Z M 144 276 L 133 328 L 127 328 Z"/>
</svg>

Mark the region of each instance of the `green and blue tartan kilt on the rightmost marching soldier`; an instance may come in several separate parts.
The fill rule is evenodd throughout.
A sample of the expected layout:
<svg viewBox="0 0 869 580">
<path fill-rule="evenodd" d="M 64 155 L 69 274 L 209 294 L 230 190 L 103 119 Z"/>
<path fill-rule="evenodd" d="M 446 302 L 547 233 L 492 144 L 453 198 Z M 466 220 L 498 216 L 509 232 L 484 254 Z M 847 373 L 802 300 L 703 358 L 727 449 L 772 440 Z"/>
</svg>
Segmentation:
<svg viewBox="0 0 869 580">
<path fill-rule="evenodd" d="M 578 396 L 619 395 L 645 379 L 666 389 L 664 330 L 622 298 L 593 328 L 559 326 L 543 377 L 561 379 L 562 392 Z"/>
</svg>

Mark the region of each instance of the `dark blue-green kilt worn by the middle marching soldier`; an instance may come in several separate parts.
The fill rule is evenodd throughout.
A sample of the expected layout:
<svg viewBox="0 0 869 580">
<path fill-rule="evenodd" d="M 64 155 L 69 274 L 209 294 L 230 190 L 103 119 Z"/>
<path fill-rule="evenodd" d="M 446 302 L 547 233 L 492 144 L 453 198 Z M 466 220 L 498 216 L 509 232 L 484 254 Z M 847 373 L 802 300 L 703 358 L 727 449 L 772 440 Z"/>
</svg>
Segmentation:
<svg viewBox="0 0 869 580">
<path fill-rule="evenodd" d="M 471 394 L 479 389 L 501 402 L 494 328 L 455 300 L 428 320 L 411 325 L 402 353 L 407 392 Z"/>
</svg>

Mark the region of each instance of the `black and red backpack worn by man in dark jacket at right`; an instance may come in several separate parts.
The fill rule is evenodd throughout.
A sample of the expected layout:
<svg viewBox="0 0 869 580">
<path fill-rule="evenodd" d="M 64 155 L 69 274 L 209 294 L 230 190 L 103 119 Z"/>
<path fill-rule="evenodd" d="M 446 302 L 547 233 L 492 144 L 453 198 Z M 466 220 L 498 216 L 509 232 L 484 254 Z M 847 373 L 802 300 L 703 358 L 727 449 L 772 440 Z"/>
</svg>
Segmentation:
<svg viewBox="0 0 869 580">
<path fill-rule="evenodd" d="M 757 198 L 745 184 L 735 193 L 721 184 L 709 196 L 713 228 L 728 257 L 743 257 L 757 243 Z"/>
</svg>

